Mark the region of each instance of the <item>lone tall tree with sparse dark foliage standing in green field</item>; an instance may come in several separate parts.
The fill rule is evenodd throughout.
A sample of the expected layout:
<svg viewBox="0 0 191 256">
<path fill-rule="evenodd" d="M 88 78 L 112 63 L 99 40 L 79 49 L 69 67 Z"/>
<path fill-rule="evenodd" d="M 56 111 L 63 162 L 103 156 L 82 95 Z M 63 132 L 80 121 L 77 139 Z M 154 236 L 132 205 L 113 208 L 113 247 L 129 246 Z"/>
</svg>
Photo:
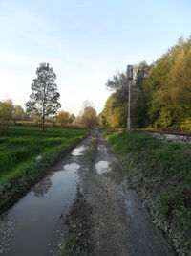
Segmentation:
<svg viewBox="0 0 191 256">
<path fill-rule="evenodd" d="M 45 118 L 55 115 L 60 108 L 60 94 L 55 83 L 56 75 L 49 63 L 41 63 L 36 70 L 37 78 L 32 81 L 32 94 L 26 103 L 27 111 L 34 112 L 42 120 L 45 130 Z"/>
</svg>

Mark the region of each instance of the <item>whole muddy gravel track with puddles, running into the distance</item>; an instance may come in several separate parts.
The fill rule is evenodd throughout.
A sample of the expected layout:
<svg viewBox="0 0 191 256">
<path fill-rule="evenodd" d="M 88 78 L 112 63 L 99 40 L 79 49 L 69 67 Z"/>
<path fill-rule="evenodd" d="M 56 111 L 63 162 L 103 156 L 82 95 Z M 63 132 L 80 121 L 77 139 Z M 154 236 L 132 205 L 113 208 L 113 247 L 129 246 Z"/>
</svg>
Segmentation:
<svg viewBox="0 0 191 256">
<path fill-rule="evenodd" d="M 0 253 L 59 255 L 69 230 L 73 255 L 173 255 L 98 132 L 1 216 Z"/>
</svg>

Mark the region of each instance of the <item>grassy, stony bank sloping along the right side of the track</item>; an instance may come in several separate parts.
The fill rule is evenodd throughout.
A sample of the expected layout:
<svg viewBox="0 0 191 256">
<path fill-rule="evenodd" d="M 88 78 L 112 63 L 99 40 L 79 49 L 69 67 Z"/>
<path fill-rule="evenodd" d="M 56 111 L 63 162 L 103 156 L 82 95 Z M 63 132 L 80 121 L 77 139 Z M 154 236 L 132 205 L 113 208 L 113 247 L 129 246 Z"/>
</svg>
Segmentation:
<svg viewBox="0 0 191 256">
<path fill-rule="evenodd" d="M 190 253 L 191 145 L 126 131 L 105 135 L 155 224 L 180 255 Z"/>
</svg>

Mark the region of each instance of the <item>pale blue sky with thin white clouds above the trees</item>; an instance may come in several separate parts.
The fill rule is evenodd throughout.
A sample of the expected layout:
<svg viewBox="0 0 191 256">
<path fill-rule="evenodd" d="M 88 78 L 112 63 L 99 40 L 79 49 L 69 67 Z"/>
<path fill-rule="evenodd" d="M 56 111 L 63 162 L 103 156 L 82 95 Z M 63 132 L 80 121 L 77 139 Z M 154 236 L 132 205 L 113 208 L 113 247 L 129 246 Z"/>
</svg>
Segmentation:
<svg viewBox="0 0 191 256">
<path fill-rule="evenodd" d="M 39 63 L 57 76 L 62 109 L 99 113 L 105 83 L 191 35 L 190 0 L 0 0 L 0 100 L 25 106 Z"/>
</svg>

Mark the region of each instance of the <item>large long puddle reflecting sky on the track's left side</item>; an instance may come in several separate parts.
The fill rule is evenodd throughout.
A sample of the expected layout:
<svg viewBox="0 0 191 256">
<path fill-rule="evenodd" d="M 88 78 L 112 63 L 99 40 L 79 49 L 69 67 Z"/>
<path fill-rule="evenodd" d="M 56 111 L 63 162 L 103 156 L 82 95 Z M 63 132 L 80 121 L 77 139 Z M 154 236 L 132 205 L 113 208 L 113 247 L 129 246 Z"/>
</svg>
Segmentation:
<svg viewBox="0 0 191 256">
<path fill-rule="evenodd" d="M 13 220 L 10 249 L 0 255 L 50 255 L 48 245 L 53 243 L 60 216 L 66 220 L 75 198 L 79 167 L 64 165 L 64 170 L 44 178 L 8 211 L 8 222 Z"/>
</svg>

